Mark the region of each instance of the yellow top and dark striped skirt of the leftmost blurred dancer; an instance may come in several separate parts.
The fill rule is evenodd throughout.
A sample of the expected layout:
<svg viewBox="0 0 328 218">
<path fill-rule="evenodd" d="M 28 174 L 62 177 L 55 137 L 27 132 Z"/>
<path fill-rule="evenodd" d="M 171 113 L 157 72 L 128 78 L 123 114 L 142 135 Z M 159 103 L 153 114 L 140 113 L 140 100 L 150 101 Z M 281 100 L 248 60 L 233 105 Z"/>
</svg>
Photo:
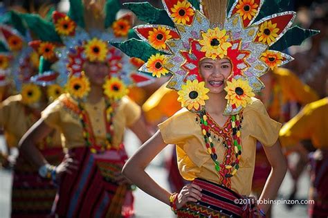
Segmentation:
<svg viewBox="0 0 328 218">
<path fill-rule="evenodd" d="M 8 145 L 17 147 L 39 116 L 21 102 L 21 95 L 10 96 L 1 102 L 0 127 L 4 129 Z M 57 165 L 62 161 L 64 155 L 58 131 L 53 131 L 37 147 L 49 163 Z M 41 179 L 37 170 L 35 165 L 26 161 L 24 154 L 19 154 L 13 170 L 12 217 L 45 217 L 50 214 L 57 188 L 51 181 Z"/>
</svg>

